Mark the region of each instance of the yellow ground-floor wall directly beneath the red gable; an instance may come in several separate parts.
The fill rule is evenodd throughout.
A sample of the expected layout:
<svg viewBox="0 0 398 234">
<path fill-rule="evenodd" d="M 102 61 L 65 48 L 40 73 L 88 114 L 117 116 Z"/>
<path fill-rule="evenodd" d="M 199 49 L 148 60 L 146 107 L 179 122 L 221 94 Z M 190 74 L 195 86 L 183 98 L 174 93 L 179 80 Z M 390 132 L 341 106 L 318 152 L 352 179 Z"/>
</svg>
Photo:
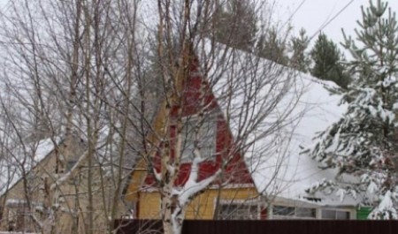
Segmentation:
<svg viewBox="0 0 398 234">
<path fill-rule="evenodd" d="M 208 189 L 195 198 L 186 212 L 186 219 L 212 219 L 217 198 L 220 200 L 256 199 L 258 192 L 255 187 Z M 139 195 L 140 219 L 157 219 L 160 217 L 160 196 L 158 192 L 141 192 Z"/>
</svg>

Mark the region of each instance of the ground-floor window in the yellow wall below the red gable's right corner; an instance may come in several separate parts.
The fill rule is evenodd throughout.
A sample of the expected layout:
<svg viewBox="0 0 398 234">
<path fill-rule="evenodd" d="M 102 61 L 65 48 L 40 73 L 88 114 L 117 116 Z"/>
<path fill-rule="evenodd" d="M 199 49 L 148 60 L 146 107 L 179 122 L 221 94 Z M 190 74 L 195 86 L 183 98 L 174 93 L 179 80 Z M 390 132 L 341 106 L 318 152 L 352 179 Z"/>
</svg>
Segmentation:
<svg viewBox="0 0 398 234">
<path fill-rule="evenodd" d="M 255 220 L 259 218 L 256 204 L 220 204 L 218 219 L 221 220 Z"/>
</svg>

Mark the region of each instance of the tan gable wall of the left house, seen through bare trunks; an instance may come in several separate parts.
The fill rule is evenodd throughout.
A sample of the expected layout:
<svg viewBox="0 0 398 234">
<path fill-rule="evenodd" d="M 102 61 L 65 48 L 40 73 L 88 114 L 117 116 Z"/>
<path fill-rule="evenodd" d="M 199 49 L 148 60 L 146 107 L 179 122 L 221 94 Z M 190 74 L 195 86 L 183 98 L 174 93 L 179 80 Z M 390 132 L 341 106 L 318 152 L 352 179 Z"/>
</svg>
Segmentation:
<svg viewBox="0 0 398 234">
<path fill-rule="evenodd" d="M 66 145 L 71 145 L 73 147 L 66 147 Z M 72 150 L 70 150 L 72 149 Z M 72 155 L 80 156 L 83 154 L 84 147 L 79 146 L 79 142 L 73 142 L 69 144 L 62 144 L 59 146 L 59 152 L 65 156 L 65 158 L 70 158 Z M 47 177 L 49 180 L 49 185 L 52 185 L 57 179 L 54 177 L 56 165 L 55 151 L 52 151 L 50 155 L 42 160 L 33 170 L 29 172 L 29 175 L 34 175 L 32 179 L 28 180 L 29 186 L 32 187 L 32 191 L 27 194 L 25 190 L 24 180 L 19 180 L 18 183 L 13 185 L 9 191 L 0 196 L 0 206 L 4 204 L 6 200 L 26 200 L 27 197 L 37 203 L 43 204 L 53 204 L 55 200 L 59 201 L 59 198 L 63 198 L 61 207 L 65 209 L 78 210 L 79 215 L 79 232 L 73 230 L 73 221 L 76 219 L 74 215 L 62 212 L 58 210 L 57 215 L 57 233 L 62 234 L 76 234 L 76 233 L 87 233 L 85 230 L 85 221 L 87 221 L 88 214 L 88 169 L 87 162 L 82 162 L 80 168 L 73 170 L 72 176 L 62 185 L 58 185 L 57 189 L 51 192 L 51 198 L 45 199 L 43 190 L 40 189 L 44 184 L 42 177 Z M 103 170 L 98 170 L 99 167 L 93 167 L 92 179 L 95 183 L 91 184 L 91 189 L 93 191 L 93 203 L 94 208 L 94 223 L 95 233 L 108 233 L 106 228 L 109 227 L 108 217 L 111 215 L 111 208 L 116 208 L 115 218 L 119 218 L 121 215 L 126 214 L 126 207 L 119 201 L 118 206 L 113 205 L 113 195 L 115 192 L 116 185 L 113 183 L 115 181 L 111 177 L 106 177 Z M 116 172 L 116 171 L 115 171 Z M 116 174 L 116 173 L 115 173 Z M 62 176 L 64 174 L 58 174 L 57 176 Z M 75 182 L 73 184 L 73 181 Z M 114 206 L 114 207 L 113 207 Z M 11 213 L 10 213 L 11 211 Z M 105 213 L 105 211 L 107 213 Z M 11 214 L 11 215 L 9 215 Z M 3 219 L 0 220 L 0 230 L 7 230 L 9 226 L 9 216 L 12 216 L 12 208 L 4 208 Z M 39 213 L 36 213 L 40 217 Z M 30 222 L 33 223 L 33 222 Z M 33 224 L 27 225 L 27 229 L 31 229 L 32 232 L 36 232 L 39 229 Z"/>
</svg>

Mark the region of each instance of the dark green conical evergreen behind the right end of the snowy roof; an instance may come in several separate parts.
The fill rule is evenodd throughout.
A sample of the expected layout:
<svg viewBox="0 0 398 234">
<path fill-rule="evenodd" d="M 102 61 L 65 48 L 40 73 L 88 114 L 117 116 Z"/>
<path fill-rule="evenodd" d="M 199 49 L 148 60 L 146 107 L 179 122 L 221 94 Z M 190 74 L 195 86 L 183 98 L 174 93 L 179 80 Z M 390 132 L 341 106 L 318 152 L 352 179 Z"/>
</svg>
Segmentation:
<svg viewBox="0 0 398 234">
<path fill-rule="evenodd" d="M 310 57 L 314 62 L 314 66 L 310 70 L 312 76 L 332 80 L 343 88 L 348 87 L 349 79 L 341 64 L 343 60 L 341 51 L 325 34 L 319 34 L 314 48 L 310 51 Z"/>
</svg>

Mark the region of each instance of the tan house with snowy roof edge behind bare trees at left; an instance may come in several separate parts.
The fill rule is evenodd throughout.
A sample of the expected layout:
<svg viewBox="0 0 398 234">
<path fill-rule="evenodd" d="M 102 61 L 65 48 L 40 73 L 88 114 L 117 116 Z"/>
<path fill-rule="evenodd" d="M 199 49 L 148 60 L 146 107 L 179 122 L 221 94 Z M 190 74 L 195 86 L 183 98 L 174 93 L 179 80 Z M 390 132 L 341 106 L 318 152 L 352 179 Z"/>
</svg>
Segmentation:
<svg viewBox="0 0 398 234">
<path fill-rule="evenodd" d="M 84 232 L 89 204 L 86 141 L 76 135 L 43 139 L 15 147 L 11 154 L 20 164 L 0 167 L 10 175 L 3 174 L 0 181 L 0 230 L 50 233 L 55 227 L 57 233 Z M 111 207 L 115 188 L 101 155 L 94 159 L 93 216 L 95 232 L 102 233 L 109 226 L 105 210 Z M 123 212 L 120 206 L 117 215 Z"/>
</svg>

